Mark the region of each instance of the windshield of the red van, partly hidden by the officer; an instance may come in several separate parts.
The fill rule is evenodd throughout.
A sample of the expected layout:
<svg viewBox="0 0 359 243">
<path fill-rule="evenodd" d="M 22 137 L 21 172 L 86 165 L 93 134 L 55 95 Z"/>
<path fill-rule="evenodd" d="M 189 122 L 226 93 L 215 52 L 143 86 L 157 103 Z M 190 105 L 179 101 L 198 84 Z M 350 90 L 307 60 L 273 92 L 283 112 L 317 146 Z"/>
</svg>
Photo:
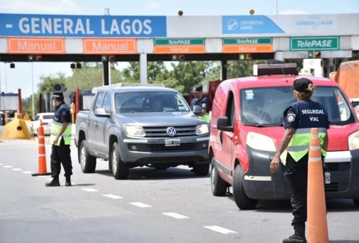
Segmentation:
<svg viewBox="0 0 359 243">
<path fill-rule="evenodd" d="M 241 89 L 241 121 L 252 126 L 281 126 L 285 108 L 295 102 L 292 87 Z M 315 87 L 312 96 L 321 103 L 331 125 L 355 122 L 354 113 L 338 87 Z"/>
</svg>

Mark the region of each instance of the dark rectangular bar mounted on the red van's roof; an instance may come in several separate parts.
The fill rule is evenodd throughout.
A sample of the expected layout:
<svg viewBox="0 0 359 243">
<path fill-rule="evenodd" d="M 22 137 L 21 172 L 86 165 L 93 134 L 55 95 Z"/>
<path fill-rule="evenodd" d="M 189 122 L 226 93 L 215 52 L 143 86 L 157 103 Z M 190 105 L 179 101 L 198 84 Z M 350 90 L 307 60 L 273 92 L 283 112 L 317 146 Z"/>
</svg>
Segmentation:
<svg viewBox="0 0 359 243">
<path fill-rule="evenodd" d="M 298 69 L 295 63 L 254 64 L 253 75 L 298 75 Z"/>
</svg>

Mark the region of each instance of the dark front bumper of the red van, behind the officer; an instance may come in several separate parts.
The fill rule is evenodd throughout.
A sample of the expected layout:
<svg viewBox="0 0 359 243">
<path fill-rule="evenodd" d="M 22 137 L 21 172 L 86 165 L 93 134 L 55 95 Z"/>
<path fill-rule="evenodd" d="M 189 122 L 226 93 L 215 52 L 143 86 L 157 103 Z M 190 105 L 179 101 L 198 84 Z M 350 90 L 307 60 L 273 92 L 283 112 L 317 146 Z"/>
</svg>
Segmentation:
<svg viewBox="0 0 359 243">
<path fill-rule="evenodd" d="M 259 200 L 290 199 L 291 191 L 283 173 L 284 165 L 271 173 L 269 166 L 275 153 L 247 146 L 249 168 L 244 175 L 245 193 Z M 330 183 L 325 184 L 327 199 L 359 199 L 359 150 L 328 152 L 326 173 Z"/>
</svg>

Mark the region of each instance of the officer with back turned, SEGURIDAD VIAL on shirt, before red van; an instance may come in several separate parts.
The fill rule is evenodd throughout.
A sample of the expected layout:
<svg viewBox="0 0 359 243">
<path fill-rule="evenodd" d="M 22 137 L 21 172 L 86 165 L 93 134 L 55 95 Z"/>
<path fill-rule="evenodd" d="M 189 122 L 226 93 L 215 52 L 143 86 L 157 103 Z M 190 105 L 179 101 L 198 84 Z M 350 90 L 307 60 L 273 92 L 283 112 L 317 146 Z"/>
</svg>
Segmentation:
<svg viewBox="0 0 359 243">
<path fill-rule="evenodd" d="M 284 175 L 287 177 L 292 191 L 294 234 L 283 240 L 283 243 L 307 242 L 305 222 L 307 221 L 308 155 L 311 128 L 318 128 L 323 167 L 325 167 L 329 120 L 324 106 L 311 99 L 314 88 L 313 83 L 307 78 L 294 81 L 293 94 L 296 102 L 290 104 L 284 111 L 285 134 L 270 164 L 271 172 L 275 173 L 282 161 L 285 167 Z"/>
</svg>

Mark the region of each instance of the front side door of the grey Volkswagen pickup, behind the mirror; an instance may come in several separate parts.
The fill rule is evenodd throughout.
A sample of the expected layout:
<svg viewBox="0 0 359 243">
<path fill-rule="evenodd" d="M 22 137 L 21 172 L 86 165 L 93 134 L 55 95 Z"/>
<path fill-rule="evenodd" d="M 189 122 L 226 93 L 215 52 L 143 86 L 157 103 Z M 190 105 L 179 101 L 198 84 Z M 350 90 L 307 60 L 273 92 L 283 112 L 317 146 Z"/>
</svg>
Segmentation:
<svg viewBox="0 0 359 243">
<path fill-rule="evenodd" d="M 105 93 L 105 97 L 103 98 L 102 108 L 106 110 L 107 113 L 111 114 L 111 95 L 109 93 Z M 107 117 L 98 117 L 98 127 L 96 130 L 96 143 L 98 147 L 98 153 L 102 156 L 108 156 L 108 146 L 106 142 L 106 138 L 108 138 L 108 124 L 110 118 Z"/>
</svg>

